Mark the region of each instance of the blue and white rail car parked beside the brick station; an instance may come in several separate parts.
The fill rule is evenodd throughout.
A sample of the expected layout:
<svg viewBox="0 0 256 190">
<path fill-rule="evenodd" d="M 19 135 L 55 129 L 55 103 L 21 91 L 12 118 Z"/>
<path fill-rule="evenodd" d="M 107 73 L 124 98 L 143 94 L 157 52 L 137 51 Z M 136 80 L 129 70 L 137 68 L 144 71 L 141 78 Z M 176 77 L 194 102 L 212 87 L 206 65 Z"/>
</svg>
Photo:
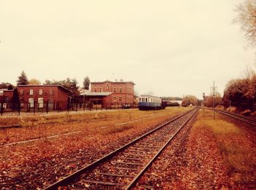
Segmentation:
<svg viewBox="0 0 256 190">
<path fill-rule="evenodd" d="M 139 110 L 157 110 L 164 109 L 166 103 L 162 101 L 161 98 L 152 95 L 140 95 L 138 108 Z"/>
</svg>

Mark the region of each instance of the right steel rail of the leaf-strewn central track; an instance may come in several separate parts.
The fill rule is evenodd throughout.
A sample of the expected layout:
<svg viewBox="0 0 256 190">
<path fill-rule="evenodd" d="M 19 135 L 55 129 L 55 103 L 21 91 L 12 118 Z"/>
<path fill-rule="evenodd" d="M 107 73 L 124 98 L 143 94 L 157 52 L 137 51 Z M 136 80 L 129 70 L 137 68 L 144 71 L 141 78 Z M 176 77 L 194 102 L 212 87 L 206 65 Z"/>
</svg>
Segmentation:
<svg viewBox="0 0 256 190">
<path fill-rule="evenodd" d="M 194 110 L 194 109 L 193 109 Z M 198 108 L 197 108 L 198 111 Z M 195 111 L 195 113 L 197 113 L 197 111 Z M 143 175 L 143 173 L 146 172 L 146 170 L 148 169 L 148 167 L 151 166 L 151 164 L 157 159 L 157 157 L 159 157 L 159 154 L 162 153 L 162 151 L 165 149 L 165 147 L 170 143 L 170 140 L 173 140 L 173 138 L 178 134 L 178 132 L 181 130 L 182 127 L 184 127 L 187 122 L 189 122 L 190 119 L 192 119 L 193 116 L 195 116 L 195 113 L 192 114 L 192 116 L 190 116 L 182 125 L 181 127 L 178 128 L 178 130 L 169 138 L 169 140 L 167 140 L 167 142 L 165 143 L 164 146 L 162 146 L 162 148 L 157 152 L 157 154 L 148 162 L 148 164 L 143 167 L 143 170 L 140 171 L 140 173 L 132 180 L 131 183 L 129 183 L 128 186 L 126 186 L 125 190 L 131 189 L 132 186 L 135 186 L 136 182 L 138 181 L 138 179 Z"/>
</svg>

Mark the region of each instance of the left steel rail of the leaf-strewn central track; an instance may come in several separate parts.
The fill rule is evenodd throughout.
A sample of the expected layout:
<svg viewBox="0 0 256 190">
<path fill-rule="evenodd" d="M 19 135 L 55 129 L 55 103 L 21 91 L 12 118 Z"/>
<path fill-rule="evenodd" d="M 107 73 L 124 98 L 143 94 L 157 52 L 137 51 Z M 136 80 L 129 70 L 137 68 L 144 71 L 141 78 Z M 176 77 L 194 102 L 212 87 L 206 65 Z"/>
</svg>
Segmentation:
<svg viewBox="0 0 256 190">
<path fill-rule="evenodd" d="M 190 112 L 194 111 L 196 108 L 189 110 L 187 112 L 185 112 L 184 114 L 181 114 L 179 116 L 176 116 L 174 119 L 171 119 L 168 122 L 165 122 L 164 124 L 161 124 L 159 127 L 150 130 L 148 132 L 146 132 L 144 135 L 141 135 L 138 138 L 135 138 L 135 140 L 132 140 L 131 142 L 125 144 L 124 146 L 121 146 L 120 148 L 116 149 L 115 151 L 110 152 L 109 154 L 105 155 L 102 158 L 97 159 L 96 161 L 92 162 L 91 164 L 87 165 L 86 167 L 81 168 L 80 170 L 76 171 L 75 173 L 72 173 L 70 175 L 68 175 L 65 178 L 62 178 L 59 181 L 56 181 L 56 183 L 51 184 L 50 186 L 45 187 L 43 190 L 51 190 L 51 189 L 58 189 L 59 186 L 63 186 L 67 183 L 69 183 L 70 181 L 73 181 L 75 178 L 77 178 L 79 175 L 85 173 L 87 170 L 91 170 L 94 167 L 96 167 L 97 165 L 99 165 L 102 162 L 105 162 L 105 160 L 110 159 L 111 157 L 115 156 L 116 154 L 118 154 L 118 152 L 123 151 L 124 149 L 126 149 L 128 146 L 131 146 L 132 144 L 138 142 L 138 140 L 145 138 L 146 136 L 150 135 L 151 133 L 159 130 L 162 127 L 165 127 L 165 125 L 170 124 L 171 122 L 176 121 L 177 119 L 181 118 L 181 116 L 184 116 L 186 114 L 189 114 Z"/>
</svg>

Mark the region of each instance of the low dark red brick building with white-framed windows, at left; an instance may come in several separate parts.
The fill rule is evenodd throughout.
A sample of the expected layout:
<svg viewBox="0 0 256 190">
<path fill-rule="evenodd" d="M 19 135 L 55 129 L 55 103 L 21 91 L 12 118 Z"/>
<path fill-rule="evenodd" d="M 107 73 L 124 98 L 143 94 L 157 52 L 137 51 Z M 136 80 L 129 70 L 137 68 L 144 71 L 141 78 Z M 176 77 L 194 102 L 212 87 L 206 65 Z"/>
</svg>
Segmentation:
<svg viewBox="0 0 256 190">
<path fill-rule="evenodd" d="M 65 110 L 71 91 L 61 85 L 18 85 L 20 106 Z"/>
</svg>

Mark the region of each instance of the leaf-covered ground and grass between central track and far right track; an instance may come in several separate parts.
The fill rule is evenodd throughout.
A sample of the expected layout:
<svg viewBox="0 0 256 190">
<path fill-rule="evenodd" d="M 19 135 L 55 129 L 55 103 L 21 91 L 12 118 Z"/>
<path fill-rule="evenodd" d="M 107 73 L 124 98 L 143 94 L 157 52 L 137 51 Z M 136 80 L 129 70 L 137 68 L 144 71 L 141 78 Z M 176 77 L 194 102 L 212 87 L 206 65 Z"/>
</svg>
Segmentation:
<svg viewBox="0 0 256 190">
<path fill-rule="evenodd" d="M 200 111 L 197 122 L 178 133 L 135 189 L 255 189 L 255 130 L 211 116 Z"/>
</svg>

